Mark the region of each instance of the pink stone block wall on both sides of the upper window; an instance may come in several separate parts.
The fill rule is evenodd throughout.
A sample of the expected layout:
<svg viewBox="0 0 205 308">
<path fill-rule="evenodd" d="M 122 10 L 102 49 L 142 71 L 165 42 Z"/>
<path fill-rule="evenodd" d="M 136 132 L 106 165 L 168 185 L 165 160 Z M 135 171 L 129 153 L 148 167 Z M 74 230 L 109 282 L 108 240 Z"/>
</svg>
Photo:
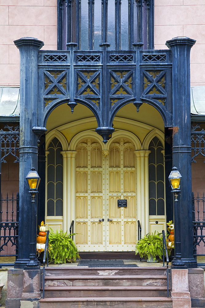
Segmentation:
<svg viewBox="0 0 205 308">
<path fill-rule="evenodd" d="M 83 0 L 85 1 L 85 0 Z M 43 49 L 57 48 L 57 0 L 0 0 L 0 85 L 19 86 L 14 40 L 32 36 Z M 191 49 L 191 86 L 205 85 L 205 0 L 155 0 L 155 49 L 176 36 L 196 39 Z"/>
</svg>

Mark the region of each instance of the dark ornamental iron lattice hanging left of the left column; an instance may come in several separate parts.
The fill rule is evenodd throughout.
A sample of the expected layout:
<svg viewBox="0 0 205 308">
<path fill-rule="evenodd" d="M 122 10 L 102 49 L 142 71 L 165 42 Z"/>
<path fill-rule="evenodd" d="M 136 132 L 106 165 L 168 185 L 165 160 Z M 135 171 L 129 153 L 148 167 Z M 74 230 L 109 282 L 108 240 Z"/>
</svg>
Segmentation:
<svg viewBox="0 0 205 308">
<path fill-rule="evenodd" d="M 5 125 L 4 130 L 0 130 L 0 148 L 1 153 L 1 163 L 6 163 L 6 156 L 9 154 L 15 157 L 14 163 L 19 162 L 19 125 L 9 126 Z"/>
</svg>

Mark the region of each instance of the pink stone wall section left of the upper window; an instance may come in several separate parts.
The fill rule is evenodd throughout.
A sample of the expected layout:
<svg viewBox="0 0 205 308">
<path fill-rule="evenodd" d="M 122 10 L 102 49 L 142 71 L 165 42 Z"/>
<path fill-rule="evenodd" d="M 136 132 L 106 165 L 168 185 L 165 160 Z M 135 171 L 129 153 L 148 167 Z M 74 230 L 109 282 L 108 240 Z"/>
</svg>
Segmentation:
<svg viewBox="0 0 205 308">
<path fill-rule="evenodd" d="M 14 40 L 35 37 L 57 49 L 57 0 L 0 0 L 0 86 L 19 86 L 19 51 Z"/>
</svg>

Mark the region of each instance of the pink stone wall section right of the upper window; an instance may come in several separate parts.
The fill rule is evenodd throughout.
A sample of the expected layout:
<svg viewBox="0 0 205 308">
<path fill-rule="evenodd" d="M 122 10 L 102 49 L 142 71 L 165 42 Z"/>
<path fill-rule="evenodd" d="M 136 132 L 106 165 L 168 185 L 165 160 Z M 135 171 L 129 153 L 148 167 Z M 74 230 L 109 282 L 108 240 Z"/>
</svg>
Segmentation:
<svg viewBox="0 0 205 308">
<path fill-rule="evenodd" d="M 205 0 L 155 0 L 155 49 L 164 49 L 166 40 L 188 36 L 191 48 L 191 86 L 205 85 Z"/>
</svg>

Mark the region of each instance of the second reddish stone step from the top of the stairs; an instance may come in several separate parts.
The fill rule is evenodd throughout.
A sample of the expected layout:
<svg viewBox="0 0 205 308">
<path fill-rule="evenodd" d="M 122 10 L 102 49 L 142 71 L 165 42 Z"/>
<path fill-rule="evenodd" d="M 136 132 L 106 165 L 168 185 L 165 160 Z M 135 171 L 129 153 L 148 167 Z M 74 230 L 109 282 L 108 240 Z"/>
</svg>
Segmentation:
<svg viewBox="0 0 205 308">
<path fill-rule="evenodd" d="M 45 286 L 166 286 L 165 275 L 45 276 Z"/>
</svg>

